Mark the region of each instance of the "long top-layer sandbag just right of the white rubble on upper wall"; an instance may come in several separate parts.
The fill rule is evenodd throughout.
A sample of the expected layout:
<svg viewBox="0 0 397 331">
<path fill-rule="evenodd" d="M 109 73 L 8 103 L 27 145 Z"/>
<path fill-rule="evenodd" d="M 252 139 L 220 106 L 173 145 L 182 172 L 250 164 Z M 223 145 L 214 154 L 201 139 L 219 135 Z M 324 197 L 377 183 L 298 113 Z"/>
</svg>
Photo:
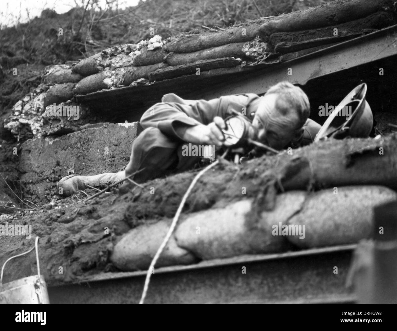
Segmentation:
<svg viewBox="0 0 397 331">
<path fill-rule="evenodd" d="M 189 53 L 235 42 L 246 42 L 255 38 L 259 27 L 259 23 L 251 23 L 218 32 L 176 36 L 167 42 L 164 48 L 167 52 Z"/>
</svg>

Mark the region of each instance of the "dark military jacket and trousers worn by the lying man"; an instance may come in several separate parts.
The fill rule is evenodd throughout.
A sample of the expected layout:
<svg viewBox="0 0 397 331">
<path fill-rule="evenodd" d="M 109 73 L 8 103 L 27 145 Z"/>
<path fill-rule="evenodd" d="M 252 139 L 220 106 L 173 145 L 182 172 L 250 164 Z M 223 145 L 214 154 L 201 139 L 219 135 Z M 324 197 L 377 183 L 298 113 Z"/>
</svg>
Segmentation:
<svg viewBox="0 0 397 331">
<path fill-rule="evenodd" d="M 183 156 L 185 142 L 177 134 L 178 127 L 208 125 L 219 116 L 223 119 L 233 111 L 253 119 L 263 97 L 253 93 L 221 96 L 206 100 L 184 100 L 176 94 L 166 94 L 161 102 L 150 107 L 141 117 L 145 129 L 134 140 L 126 175 L 145 168 L 135 175 L 135 181 L 142 183 L 175 172 L 191 169 L 200 161 L 200 156 Z M 304 125 L 302 144 L 313 141 L 320 125 L 308 119 Z"/>
</svg>

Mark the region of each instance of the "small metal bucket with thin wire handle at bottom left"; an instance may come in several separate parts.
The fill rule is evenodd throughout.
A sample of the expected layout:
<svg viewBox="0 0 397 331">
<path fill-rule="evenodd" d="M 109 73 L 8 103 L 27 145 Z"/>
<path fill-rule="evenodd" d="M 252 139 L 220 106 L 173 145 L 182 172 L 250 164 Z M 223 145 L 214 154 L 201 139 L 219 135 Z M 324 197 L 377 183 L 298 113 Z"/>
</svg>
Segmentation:
<svg viewBox="0 0 397 331">
<path fill-rule="evenodd" d="M 39 252 L 37 249 L 38 242 L 39 237 L 36 237 L 35 246 L 33 246 L 29 251 L 12 256 L 6 262 L 4 262 L 0 276 L 0 304 L 50 303 L 46 282 L 44 281 L 44 277 L 40 275 Z M 6 263 L 13 258 L 17 258 L 19 256 L 30 253 L 34 248 L 36 248 L 37 275 L 17 279 L 15 281 L 2 285 L 3 271 Z"/>
</svg>

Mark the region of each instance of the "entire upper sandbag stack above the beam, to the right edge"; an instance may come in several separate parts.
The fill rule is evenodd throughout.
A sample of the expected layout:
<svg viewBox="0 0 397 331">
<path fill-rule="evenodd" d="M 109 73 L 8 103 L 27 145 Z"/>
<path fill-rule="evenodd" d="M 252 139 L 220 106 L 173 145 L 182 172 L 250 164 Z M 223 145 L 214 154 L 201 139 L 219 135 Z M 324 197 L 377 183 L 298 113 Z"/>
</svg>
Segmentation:
<svg viewBox="0 0 397 331">
<path fill-rule="evenodd" d="M 233 28 L 182 34 L 167 40 L 154 36 L 137 45 L 121 45 L 73 67 L 75 73 L 85 77 L 74 93 L 148 84 L 197 74 L 197 69 L 254 65 L 266 62 L 275 53 L 310 52 L 392 25 L 393 4 L 392 0 L 336 0 Z"/>
</svg>

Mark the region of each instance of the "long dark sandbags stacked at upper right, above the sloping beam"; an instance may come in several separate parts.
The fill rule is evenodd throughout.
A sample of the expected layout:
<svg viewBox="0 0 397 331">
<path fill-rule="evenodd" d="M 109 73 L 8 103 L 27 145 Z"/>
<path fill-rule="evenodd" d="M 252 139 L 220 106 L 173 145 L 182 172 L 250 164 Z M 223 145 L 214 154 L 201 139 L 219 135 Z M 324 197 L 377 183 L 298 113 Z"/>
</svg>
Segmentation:
<svg viewBox="0 0 397 331">
<path fill-rule="evenodd" d="M 335 0 L 266 21 L 260 36 L 274 52 L 289 53 L 341 42 L 395 24 L 393 0 Z"/>
</svg>

